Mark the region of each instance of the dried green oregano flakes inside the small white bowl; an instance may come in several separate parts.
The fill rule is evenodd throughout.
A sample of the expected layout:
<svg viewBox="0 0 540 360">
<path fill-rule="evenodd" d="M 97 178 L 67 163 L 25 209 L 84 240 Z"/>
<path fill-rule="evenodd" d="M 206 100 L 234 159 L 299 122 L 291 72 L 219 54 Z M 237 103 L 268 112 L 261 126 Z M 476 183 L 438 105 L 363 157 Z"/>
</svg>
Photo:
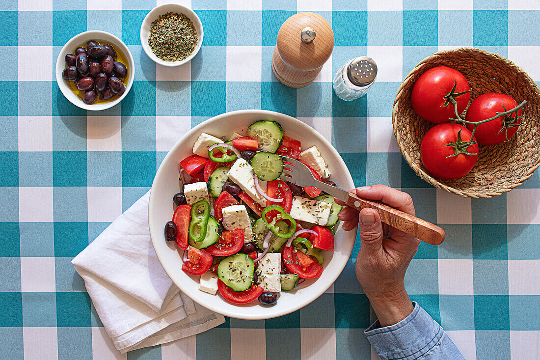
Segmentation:
<svg viewBox="0 0 540 360">
<path fill-rule="evenodd" d="M 173 62 L 190 56 L 197 39 L 195 26 L 187 16 L 167 12 L 150 26 L 148 44 L 161 60 Z"/>
</svg>

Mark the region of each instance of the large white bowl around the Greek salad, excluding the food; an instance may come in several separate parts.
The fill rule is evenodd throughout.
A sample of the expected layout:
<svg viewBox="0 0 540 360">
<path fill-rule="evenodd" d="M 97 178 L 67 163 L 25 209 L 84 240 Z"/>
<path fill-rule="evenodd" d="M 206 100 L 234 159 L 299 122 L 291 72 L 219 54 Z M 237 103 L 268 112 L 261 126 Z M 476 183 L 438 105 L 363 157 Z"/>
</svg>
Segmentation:
<svg viewBox="0 0 540 360">
<path fill-rule="evenodd" d="M 193 143 L 201 132 L 222 137 L 230 136 L 233 131 L 246 134 L 247 127 L 261 119 L 273 120 L 281 124 L 287 136 L 302 142 L 302 147 L 316 145 L 325 158 L 332 181 L 343 189 L 354 188 L 353 179 L 343 159 L 321 134 L 301 121 L 279 112 L 266 110 L 239 110 L 215 116 L 195 126 L 184 135 L 168 152 L 159 166 L 150 191 L 149 224 L 150 236 L 156 254 L 174 284 L 193 301 L 225 316 L 240 319 L 268 319 L 286 315 L 314 301 L 340 275 L 353 250 L 356 230 L 345 231 L 339 226 L 335 234 L 334 252 L 322 251 L 325 262 L 324 271 L 316 279 L 306 280 L 294 291 L 281 292 L 278 302 L 273 306 L 260 305 L 258 301 L 246 305 L 228 303 L 219 295 L 210 295 L 200 291 L 199 276 L 189 276 L 182 271 L 181 250 L 173 242 L 165 241 L 164 226 L 173 215 L 173 195 L 179 192 L 178 167 L 181 159 L 192 155 Z"/>
</svg>

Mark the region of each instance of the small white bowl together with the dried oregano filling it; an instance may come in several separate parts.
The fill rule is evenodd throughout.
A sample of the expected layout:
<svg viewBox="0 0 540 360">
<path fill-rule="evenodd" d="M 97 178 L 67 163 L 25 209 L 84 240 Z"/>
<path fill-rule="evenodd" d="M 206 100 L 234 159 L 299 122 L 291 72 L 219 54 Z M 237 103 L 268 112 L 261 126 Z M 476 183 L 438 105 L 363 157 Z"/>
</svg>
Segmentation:
<svg viewBox="0 0 540 360">
<path fill-rule="evenodd" d="M 179 66 L 190 62 L 203 43 L 203 23 L 180 4 L 153 8 L 140 26 L 140 43 L 154 62 Z"/>
</svg>

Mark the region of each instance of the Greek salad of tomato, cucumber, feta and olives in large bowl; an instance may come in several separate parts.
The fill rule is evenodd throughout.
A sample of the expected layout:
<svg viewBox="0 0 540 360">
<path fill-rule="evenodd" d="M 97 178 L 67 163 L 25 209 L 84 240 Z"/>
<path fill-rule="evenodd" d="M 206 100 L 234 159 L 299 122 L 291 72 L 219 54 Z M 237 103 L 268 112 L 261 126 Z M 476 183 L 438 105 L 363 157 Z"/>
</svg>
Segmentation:
<svg viewBox="0 0 540 360">
<path fill-rule="evenodd" d="M 184 250 L 182 270 L 200 276 L 199 290 L 234 304 L 272 305 L 281 291 L 321 275 L 321 251 L 334 250 L 341 206 L 314 186 L 280 178 L 281 156 L 335 185 L 319 149 L 302 151 L 274 121 L 254 122 L 226 141 L 203 132 L 180 161 L 184 189 L 174 195 L 165 238 Z"/>
</svg>

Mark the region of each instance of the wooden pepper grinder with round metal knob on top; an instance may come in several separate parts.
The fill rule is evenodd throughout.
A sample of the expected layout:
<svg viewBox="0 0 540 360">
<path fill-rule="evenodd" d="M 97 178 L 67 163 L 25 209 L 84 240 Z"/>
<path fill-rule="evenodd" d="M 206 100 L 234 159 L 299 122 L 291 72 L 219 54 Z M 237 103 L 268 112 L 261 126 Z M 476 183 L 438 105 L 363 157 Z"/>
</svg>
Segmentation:
<svg viewBox="0 0 540 360">
<path fill-rule="evenodd" d="M 309 85 L 334 49 L 334 32 L 325 18 L 313 12 L 289 17 L 278 32 L 272 71 L 291 88 Z"/>
</svg>

